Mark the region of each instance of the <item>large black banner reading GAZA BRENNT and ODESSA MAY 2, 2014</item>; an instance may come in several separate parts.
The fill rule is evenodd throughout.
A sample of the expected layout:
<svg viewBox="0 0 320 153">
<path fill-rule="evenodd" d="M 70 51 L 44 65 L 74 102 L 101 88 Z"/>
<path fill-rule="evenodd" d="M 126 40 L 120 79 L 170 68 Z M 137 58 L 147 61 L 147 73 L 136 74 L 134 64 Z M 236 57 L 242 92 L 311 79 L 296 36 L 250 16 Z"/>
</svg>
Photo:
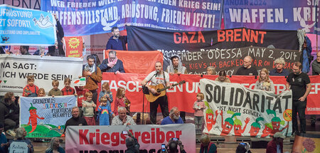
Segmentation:
<svg viewBox="0 0 320 153">
<path fill-rule="evenodd" d="M 164 53 L 164 68 L 168 65 L 170 57 L 176 54 L 181 57 L 188 73 L 193 74 L 206 72 L 206 67 L 209 65 L 216 66 L 217 71 L 238 70 L 243 65 L 242 59 L 247 55 L 252 56 L 252 58 L 257 57 L 255 60 L 268 61 L 270 63 L 268 68 L 271 68 L 275 58 L 285 58 L 288 63 L 299 60 L 297 31 L 255 30 L 250 28 L 218 31 L 165 31 L 127 26 L 127 36 L 129 50 L 161 51 Z M 250 53 L 250 48 L 245 48 L 247 46 L 263 48 L 252 48 L 255 51 L 259 50 L 260 53 L 253 53 L 255 51 Z M 265 52 L 262 53 L 262 51 Z M 218 55 L 218 53 L 220 54 Z M 289 54 L 292 56 L 289 56 Z M 219 66 L 220 62 L 229 61 L 230 63 L 235 60 L 238 60 L 239 63 Z M 259 60 L 256 64 L 257 69 L 267 67 L 267 65 L 261 66 Z M 235 72 L 233 71 L 233 73 Z M 233 73 L 228 73 L 228 75 Z"/>
</svg>

